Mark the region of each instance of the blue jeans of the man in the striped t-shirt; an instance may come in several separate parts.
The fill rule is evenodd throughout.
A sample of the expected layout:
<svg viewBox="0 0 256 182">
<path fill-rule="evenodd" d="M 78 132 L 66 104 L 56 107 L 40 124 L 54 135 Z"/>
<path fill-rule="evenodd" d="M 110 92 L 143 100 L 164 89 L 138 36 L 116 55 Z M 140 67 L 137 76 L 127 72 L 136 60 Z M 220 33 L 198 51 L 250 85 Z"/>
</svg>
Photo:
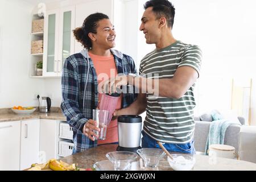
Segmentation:
<svg viewBox="0 0 256 182">
<path fill-rule="evenodd" d="M 152 139 L 144 131 L 142 131 L 142 136 L 143 136 L 141 139 L 142 148 L 161 148 L 159 144 L 156 142 L 156 140 Z M 166 148 L 166 150 L 170 152 L 183 152 L 187 154 L 196 154 L 193 140 L 185 144 L 163 143 L 163 146 Z"/>
</svg>

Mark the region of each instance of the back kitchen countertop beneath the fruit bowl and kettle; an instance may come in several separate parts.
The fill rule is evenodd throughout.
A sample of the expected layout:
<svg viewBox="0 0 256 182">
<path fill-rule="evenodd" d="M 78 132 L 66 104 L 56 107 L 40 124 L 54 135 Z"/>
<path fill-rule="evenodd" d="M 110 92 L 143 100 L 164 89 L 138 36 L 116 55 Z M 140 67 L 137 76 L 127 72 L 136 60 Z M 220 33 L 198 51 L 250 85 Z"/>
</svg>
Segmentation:
<svg viewBox="0 0 256 182">
<path fill-rule="evenodd" d="M 13 111 L 11 111 L 11 109 L 1 109 L 0 111 L 0 122 L 19 121 L 34 118 L 67 121 L 66 117 L 58 108 L 51 109 L 51 113 L 39 113 L 38 111 L 34 111 L 32 114 L 15 114 Z"/>
</svg>

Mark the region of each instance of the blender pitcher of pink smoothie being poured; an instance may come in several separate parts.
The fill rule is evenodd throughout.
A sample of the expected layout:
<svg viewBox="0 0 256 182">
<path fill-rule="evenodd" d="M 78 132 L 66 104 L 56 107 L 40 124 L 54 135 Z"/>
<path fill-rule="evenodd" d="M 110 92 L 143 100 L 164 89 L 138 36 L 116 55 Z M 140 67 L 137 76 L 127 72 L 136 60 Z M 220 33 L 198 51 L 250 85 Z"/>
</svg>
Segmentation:
<svg viewBox="0 0 256 182">
<path fill-rule="evenodd" d="M 117 107 L 117 102 L 118 102 L 120 95 L 121 94 L 119 94 L 119 93 L 112 93 L 112 94 L 103 93 L 101 96 L 101 102 L 100 102 L 99 109 L 109 111 L 108 125 L 112 119 L 112 115 L 115 111 L 115 108 Z"/>
</svg>

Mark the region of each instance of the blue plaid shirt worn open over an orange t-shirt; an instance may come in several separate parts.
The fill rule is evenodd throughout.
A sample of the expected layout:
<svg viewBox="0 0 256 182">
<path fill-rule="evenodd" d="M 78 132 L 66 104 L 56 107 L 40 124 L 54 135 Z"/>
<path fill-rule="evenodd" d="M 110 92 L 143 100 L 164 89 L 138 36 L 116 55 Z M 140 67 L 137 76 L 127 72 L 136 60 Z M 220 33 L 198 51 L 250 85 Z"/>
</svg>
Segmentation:
<svg viewBox="0 0 256 182">
<path fill-rule="evenodd" d="M 137 69 L 133 59 L 119 51 L 110 49 L 115 60 L 118 73 L 137 74 Z M 84 93 L 85 81 L 87 76 L 88 64 L 86 57 L 88 50 L 84 49 L 80 53 L 69 56 L 64 63 L 61 78 L 62 102 L 61 110 L 67 122 L 73 127 L 73 142 L 75 151 L 84 151 L 86 148 L 97 146 L 97 140 L 92 141 L 82 133 L 82 127 L 92 119 L 92 110 L 98 105 L 98 81 L 96 70 L 92 59 L 89 58 L 89 76 Z M 133 88 L 134 90 L 134 88 Z M 85 105 L 83 109 L 83 98 L 85 94 Z M 135 101 L 137 94 L 123 93 L 122 108 L 129 106 Z"/>
</svg>

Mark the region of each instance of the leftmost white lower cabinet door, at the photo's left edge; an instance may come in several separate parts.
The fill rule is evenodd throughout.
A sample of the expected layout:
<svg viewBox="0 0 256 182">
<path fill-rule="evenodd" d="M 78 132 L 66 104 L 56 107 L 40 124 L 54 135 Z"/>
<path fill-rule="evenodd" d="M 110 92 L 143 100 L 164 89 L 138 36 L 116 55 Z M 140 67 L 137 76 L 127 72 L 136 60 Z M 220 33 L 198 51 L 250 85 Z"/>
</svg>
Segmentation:
<svg viewBox="0 0 256 182">
<path fill-rule="evenodd" d="M 19 170 L 20 121 L 0 122 L 0 171 Z"/>
</svg>

